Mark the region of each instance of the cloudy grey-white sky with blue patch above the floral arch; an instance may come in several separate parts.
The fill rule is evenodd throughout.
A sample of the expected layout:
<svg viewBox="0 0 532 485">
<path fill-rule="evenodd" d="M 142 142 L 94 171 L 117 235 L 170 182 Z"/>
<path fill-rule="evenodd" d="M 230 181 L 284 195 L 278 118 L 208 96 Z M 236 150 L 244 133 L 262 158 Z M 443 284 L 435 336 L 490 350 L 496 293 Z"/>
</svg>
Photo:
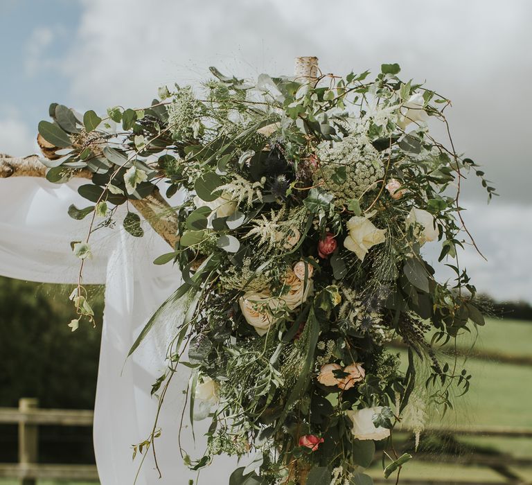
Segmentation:
<svg viewBox="0 0 532 485">
<path fill-rule="evenodd" d="M 35 152 L 51 102 L 140 107 L 211 65 L 256 77 L 290 75 L 297 55 L 336 74 L 398 62 L 452 100 L 456 149 L 500 193 L 487 205 L 465 184 L 488 261 L 468 250 L 461 265 L 496 299 L 532 301 L 531 18 L 529 0 L 0 0 L 0 152 Z"/>
</svg>

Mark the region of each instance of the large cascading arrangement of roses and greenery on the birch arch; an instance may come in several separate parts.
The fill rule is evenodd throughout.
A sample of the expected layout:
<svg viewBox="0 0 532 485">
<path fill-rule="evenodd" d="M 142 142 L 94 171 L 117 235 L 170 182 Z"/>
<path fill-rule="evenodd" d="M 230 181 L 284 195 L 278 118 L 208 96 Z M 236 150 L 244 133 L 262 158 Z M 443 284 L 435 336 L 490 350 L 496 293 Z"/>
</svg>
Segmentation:
<svg viewBox="0 0 532 485">
<path fill-rule="evenodd" d="M 447 409 L 470 385 L 436 347 L 484 324 L 456 257 L 468 235 L 459 194 L 467 173 L 489 197 L 494 189 L 450 136 L 447 147 L 429 131 L 441 123 L 450 133 L 450 101 L 400 80 L 397 64 L 371 81 L 364 72 L 250 83 L 211 71 L 196 91 L 163 87 L 149 107 L 113 107 L 105 118 L 51 105 L 53 123 L 39 125 L 47 177 L 88 174 L 79 192 L 94 204 L 69 213 L 91 215 L 91 231 L 157 187 L 184 194 L 153 215 L 177 224 L 172 251 L 154 263 L 177 265 L 184 283 L 132 351 L 174 312 L 168 370 L 152 394 L 162 403 L 177 365 L 193 369 L 190 422 L 211 426 L 206 454 L 184 454 L 190 468 L 251 454 L 231 485 L 366 485 L 380 442 L 384 476 L 398 473 L 411 455 L 398 456 L 391 437 L 409 409 L 423 414 L 416 392 L 426 387 L 430 405 Z M 123 226 L 143 234 L 134 212 Z M 72 243 L 82 264 L 89 236 Z M 434 279 L 426 243 L 441 246 L 454 281 Z M 93 317 L 81 283 L 72 299 L 75 329 Z"/>
</svg>

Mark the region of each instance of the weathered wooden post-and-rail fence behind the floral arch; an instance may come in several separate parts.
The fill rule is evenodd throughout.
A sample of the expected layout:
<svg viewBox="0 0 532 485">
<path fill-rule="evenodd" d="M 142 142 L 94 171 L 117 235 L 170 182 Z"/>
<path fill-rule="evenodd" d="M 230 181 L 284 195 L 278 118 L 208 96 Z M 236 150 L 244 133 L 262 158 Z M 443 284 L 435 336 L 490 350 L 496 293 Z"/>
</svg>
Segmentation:
<svg viewBox="0 0 532 485">
<path fill-rule="evenodd" d="M 36 399 L 23 398 L 19 407 L 0 408 L 0 424 L 17 424 L 19 427 L 19 463 L 0 464 L 0 477 L 15 478 L 21 485 L 36 485 L 38 479 L 64 479 L 76 481 L 98 481 L 94 465 L 48 465 L 39 464 L 39 426 L 92 426 L 93 412 L 71 409 L 39 409 Z M 532 429 L 515 427 L 444 427 L 432 426 L 425 430 L 436 436 L 495 436 L 506 438 L 532 438 Z M 486 466 L 501 476 L 501 482 L 452 482 L 445 477 L 440 479 L 401 479 L 402 485 L 532 485 L 509 467 L 532 467 L 531 458 L 512 457 L 506 454 L 488 455 L 472 452 L 465 455 L 445 453 L 416 454 L 420 461 L 437 461 L 463 466 Z M 392 482 L 393 483 L 393 482 Z M 375 479 L 375 485 L 390 485 L 390 480 Z"/>
</svg>

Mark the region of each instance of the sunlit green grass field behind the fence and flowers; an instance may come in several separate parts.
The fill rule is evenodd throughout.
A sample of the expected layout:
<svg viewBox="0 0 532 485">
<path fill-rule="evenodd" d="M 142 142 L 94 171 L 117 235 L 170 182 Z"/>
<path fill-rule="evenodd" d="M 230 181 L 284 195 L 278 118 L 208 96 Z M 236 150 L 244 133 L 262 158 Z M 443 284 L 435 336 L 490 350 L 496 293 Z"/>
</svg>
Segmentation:
<svg viewBox="0 0 532 485">
<path fill-rule="evenodd" d="M 477 355 L 483 351 L 508 355 L 532 355 L 532 323 L 513 320 L 488 319 L 480 328 L 479 335 L 463 335 L 459 346 L 467 348 L 476 339 Z M 464 359 L 461 360 L 463 362 Z M 465 361 L 465 368 L 472 373 L 471 390 L 455 401 L 455 409 L 444 418 L 436 409 L 431 414 L 434 424 L 457 424 L 467 426 L 511 426 L 532 428 L 532 366 L 500 364 L 490 360 L 471 357 Z M 460 440 L 476 446 L 509 453 L 515 457 L 532 458 L 532 439 L 507 439 L 493 437 L 468 437 Z M 436 458 L 436 457 L 435 457 Z M 434 460 L 436 461 L 436 460 Z M 532 480 L 532 468 L 516 468 L 520 477 Z M 373 477 L 382 477 L 378 466 L 370 471 Z M 401 477 L 416 479 L 445 478 L 454 480 L 477 480 L 504 483 L 500 475 L 488 468 L 474 466 L 443 465 L 427 462 L 409 462 L 402 470 Z M 391 484 L 395 480 L 390 479 Z M 1 481 L 0 485 L 16 485 L 13 480 Z M 67 482 L 42 481 L 39 485 L 60 485 Z M 94 485 L 77 482 L 76 485 Z"/>
</svg>

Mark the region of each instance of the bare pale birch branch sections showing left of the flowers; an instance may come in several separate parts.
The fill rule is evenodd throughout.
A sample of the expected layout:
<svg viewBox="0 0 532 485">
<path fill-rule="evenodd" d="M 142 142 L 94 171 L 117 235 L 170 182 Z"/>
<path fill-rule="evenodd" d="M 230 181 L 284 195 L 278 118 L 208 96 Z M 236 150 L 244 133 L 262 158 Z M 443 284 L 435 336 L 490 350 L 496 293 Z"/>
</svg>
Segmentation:
<svg viewBox="0 0 532 485">
<path fill-rule="evenodd" d="M 39 160 L 39 155 L 10 157 L 0 153 L 0 178 L 45 176 L 46 166 Z M 76 172 L 76 177 L 90 179 L 91 173 L 89 170 L 79 170 Z M 173 249 L 179 241 L 177 215 L 159 189 L 156 187 L 148 197 L 129 202 Z"/>
</svg>

